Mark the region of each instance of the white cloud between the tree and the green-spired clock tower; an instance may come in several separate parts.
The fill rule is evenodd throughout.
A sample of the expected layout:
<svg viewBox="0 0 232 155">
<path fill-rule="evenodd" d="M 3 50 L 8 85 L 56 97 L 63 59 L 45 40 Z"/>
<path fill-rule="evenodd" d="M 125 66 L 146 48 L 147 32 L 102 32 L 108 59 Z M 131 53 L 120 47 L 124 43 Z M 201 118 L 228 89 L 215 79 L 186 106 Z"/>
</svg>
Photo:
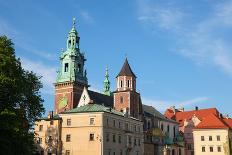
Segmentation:
<svg viewBox="0 0 232 155">
<path fill-rule="evenodd" d="M 42 62 L 35 62 L 28 60 L 27 58 L 21 58 L 22 67 L 26 70 L 33 71 L 38 76 L 42 76 L 42 83 L 44 88 L 42 92 L 45 94 L 54 94 L 53 83 L 56 79 L 56 68 L 53 66 L 48 66 Z"/>
</svg>

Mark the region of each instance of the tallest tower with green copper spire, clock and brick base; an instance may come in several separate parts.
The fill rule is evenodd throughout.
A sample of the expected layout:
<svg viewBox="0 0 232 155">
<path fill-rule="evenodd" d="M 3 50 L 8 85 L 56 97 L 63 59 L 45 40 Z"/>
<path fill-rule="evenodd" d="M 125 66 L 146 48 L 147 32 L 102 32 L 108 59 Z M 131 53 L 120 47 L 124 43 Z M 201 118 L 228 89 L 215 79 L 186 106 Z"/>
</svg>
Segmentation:
<svg viewBox="0 0 232 155">
<path fill-rule="evenodd" d="M 77 106 L 84 87 L 88 87 L 86 61 L 80 51 L 80 37 L 75 27 L 68 33 L 66 50 L 61 51 L 60 68 L 55 85 L 55 113 L 73 109 Z"/>
</svg>

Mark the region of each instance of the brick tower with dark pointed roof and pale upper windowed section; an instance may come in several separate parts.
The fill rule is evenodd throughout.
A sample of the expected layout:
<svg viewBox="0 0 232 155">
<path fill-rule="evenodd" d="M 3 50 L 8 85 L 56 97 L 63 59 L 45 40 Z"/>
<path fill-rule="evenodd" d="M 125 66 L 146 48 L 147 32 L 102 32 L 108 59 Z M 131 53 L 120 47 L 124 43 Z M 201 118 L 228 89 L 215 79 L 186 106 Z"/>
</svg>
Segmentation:
<svg viewBox="0 0 232 155">
<path fill-rule="evenodd" d="M 126 58 L 121 71 L 116 77 L 117 89 L 114 92 L 114 108 L 127 112 L 131 117 L 142 119 L 142 102 L 136 92 L 136 76 Z"/>
</svg>

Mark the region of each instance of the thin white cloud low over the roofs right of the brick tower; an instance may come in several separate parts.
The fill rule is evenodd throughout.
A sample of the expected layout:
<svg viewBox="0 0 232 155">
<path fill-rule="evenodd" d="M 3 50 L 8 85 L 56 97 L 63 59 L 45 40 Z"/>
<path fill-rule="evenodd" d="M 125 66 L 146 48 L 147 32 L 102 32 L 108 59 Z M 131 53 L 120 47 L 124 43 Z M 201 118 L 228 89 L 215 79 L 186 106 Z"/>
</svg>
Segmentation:
<svg viewBox="0 0 232 155">
<path fill-rule="evenodd" d="M 143 98 L 142 100 L 143 100 L 143 104 L 151 105 L 160 111 L 165 111 L 170 106 L 175 106 L 177 108 L 188 107 L 191 105 L 196 105 L 199 103 L 206 102 L 209 100 L 209 98 L 208 97 L 196 97 L 196 98 L 189 99 L 186 101 L 152 100 L 152 99 L 147 99 L 147 98 Z"/>
</svg>

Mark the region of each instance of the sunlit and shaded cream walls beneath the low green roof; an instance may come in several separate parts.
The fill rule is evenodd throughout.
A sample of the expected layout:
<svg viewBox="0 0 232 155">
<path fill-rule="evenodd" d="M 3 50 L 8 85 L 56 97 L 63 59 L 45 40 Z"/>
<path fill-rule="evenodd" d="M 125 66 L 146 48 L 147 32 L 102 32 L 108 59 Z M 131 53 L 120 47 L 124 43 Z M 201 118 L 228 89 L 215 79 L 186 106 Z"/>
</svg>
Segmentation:
<svg viewBox="0 0 232 155">
<path fill-rule="evenodd" d="M 143 154 L 143 124 L 138 120 L 126 118 L 110 113 L 76 113 L 76 114 L 61 114 L 63 119 L 62 124 L 62 141 L 63 141 L 63 153 L 66 150 L 70 150 L 71 155 L 108 155 L 109 151 L 111 155 L 120 155 L 120 151 L 123 151 L 125 155 L 127 146 L 127 136 L 132 137 L 132 144 L 134 144 L 134 138 L 140 139 L 140 146 L 132 145 L 130 155 Z M 90 125 L 90 118 L 95 118 L 94 125 Z M 71 126 L 67 126 L 67 119 L 71 119 Z M 107 125 L 107 119 L 109 124 Z M 115 120 L 116 126 L 113 125 Z M 119 128 L 118 123 L 121 122 Z M 125 134 L 125 122 L 134 127 L 137 126 L 137 131 L 131 130 L 130 133 Z M 104 128 L 103 128 L 104 125 Z M 140 128 L 140 130 L 138 130 Z M 94 133 L 94 141 L 89 141 L 89 134 Z M 102 134 L 104 133 L 104 134 Z M 109 134 L 109 141 L 106 141 L 106 134 Z M 66 135 L 71 135 L 71 142 L 66 142 Z M 113 134 L 116 135 L 116 142 L 113 142 Z M 118 135 L 121 135 L 121 143 L 118 142 Z M 103 139 L 103 143 L 101 140 Z M 138 140 L 137 140 L 138 143 Z M 102 152 L 101 152 L 102 151 Z"/>
</svg>

